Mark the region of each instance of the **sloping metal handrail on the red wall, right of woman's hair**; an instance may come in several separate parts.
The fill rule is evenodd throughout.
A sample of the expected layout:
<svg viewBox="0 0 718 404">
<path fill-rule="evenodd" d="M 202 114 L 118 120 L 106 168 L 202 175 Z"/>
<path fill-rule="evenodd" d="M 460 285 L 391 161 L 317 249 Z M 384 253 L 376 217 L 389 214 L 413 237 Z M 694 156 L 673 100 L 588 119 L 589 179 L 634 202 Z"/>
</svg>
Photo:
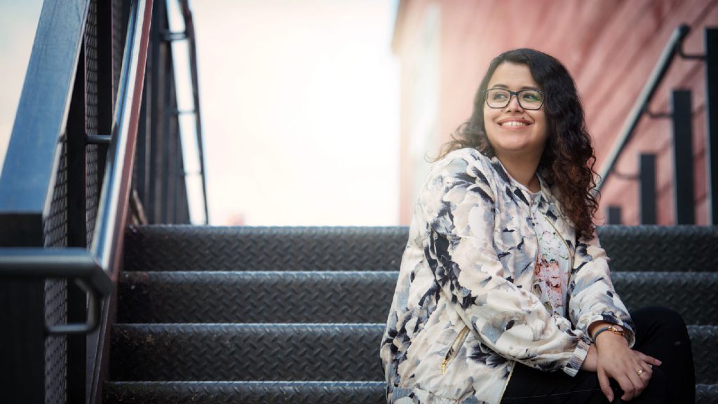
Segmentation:
<svg viewBox="0 0 718 404">
<path fill-rule="evenodd" d="M 673 34 L 671 35 L 671 38 L 668 39 L 668 43 L 663 49 L 661 57 L 658 58 L 656 67 L 653 68 L 653 72 L 651 72 L 651 75 L 648 76 L 648 81 L 645 83 L 645 86 L 643 86 L 643 90 L 638 95 L 638 99 L 635 101 L 635 104 L 633 104 L 633 109 L 631 109 L 630 114 L 628 114 L 628 119 L 626 119 L 623 129 L 621 129 L 618 139 L 616 139 L 613 143 L 613 147 L 609 152 L 607 159 L 601 166 L 599 182 L 596 185 L 597 190 L 601 190 L 603 184 L 606 183 L 609 175 L 613 172 L 616 161 L 623 152 L 626 144 L 628 144 L 635 127 L 638 126 L 638 121 L 641 116 L 648 113 L 648 103 L 651 102 L 653 93 L 656 93 L 658 85 L 660 85 L 661 81 L 663 81 L 663 76 L 666 75 L 668 68 L 671 67 L 673 58 L 676 55 L 681 55 L 681 44 L 690 31 L 691 28 L 686 24 L 681 24 L 673 30 Z"/>
</svg>

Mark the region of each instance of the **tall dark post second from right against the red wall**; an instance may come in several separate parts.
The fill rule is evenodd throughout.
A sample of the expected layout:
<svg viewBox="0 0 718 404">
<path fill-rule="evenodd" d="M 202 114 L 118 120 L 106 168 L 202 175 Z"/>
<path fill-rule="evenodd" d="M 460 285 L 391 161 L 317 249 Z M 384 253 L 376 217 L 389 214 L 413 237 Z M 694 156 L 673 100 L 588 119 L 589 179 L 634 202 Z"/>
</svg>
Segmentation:
<svg viewBox="0 0 718 404">
<path fill-rule="evenodd" d="M 673 109 L 673 205 L 676 224 L 695 224 L 691 91 L 671 92 Z"/>
</svg>

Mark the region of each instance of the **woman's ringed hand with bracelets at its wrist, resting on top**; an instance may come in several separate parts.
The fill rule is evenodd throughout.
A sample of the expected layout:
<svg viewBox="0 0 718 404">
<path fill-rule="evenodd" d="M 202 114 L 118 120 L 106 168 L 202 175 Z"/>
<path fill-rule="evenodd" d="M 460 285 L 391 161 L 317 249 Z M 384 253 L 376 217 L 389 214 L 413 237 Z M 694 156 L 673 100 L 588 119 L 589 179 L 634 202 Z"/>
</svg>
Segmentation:
<svg viewBox="0 0 718 404">
<path fill-rule="evenodd" d="M 595 346 L 598 382 L 601 391 L 609 401 L 613 401 L 613 390 L 609 377 L 618 382 L 623 390 L 624 394 L 621 396 L 621 400 L 629 401 L 640 395 L 648 386 L 653 375 L 653 365 L 661 364 L 661 361 L 656 358 L 630 349 L 623 336 L 610 332 L 601 333 L 597 337 Z M 588 355 L 586 359 L 589 359 Z"/>
</svg>

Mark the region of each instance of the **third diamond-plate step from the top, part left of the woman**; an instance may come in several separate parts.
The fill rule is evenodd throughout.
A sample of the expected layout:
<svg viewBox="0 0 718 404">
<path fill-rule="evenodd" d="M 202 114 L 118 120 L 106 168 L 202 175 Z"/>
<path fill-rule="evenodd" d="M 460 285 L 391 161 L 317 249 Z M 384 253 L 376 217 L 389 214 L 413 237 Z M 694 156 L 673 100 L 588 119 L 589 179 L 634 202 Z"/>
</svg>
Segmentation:
<svg viewBox="0 0 718 404">
<path fill-rule="evenodd" d="M 110 380 L 383 380 L 383 324 L 116 324 Z"/>
</svg>

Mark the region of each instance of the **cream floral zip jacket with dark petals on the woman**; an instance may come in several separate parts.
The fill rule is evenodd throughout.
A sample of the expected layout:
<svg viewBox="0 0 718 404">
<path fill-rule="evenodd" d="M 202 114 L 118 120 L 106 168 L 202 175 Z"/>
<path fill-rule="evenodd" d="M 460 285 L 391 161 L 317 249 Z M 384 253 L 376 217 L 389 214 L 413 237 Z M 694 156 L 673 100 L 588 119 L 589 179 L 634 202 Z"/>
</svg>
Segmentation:
<svg viewBox="0 0 718 404">
<path fill-rule="evenodd" d="M 598 239 L 576 240 L 542 183 L 538 212 L 572 252 L 567 313 L 531 290 L 538 242 L 523 187 L 473 149 L 437 162 L 421 190 L 381 359 L 388 403 L 499 403 L 516 362 L 574 376 L 594 321 L 633 322 Z"/>
</svg>

